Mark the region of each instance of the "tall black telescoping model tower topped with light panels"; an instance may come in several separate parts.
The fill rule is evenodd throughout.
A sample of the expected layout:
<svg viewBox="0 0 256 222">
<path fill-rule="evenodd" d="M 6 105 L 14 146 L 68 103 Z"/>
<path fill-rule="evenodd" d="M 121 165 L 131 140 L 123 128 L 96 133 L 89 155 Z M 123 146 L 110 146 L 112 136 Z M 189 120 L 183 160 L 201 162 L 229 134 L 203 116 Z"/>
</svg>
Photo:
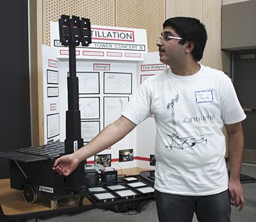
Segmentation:
<svg viewBox="0 0 256 222">
<path fill-rule="evenodd" d="M 66 112 L 65 154 L 70 154 L 83 147 L 81 138 L 81 114 L 79 110 L 79 88 L 76 76 L 76 46 L 92 43 L 90 19 L 61 15 L 59 19 L 61 45 L 69 48 L 68 110 Z M 84 163 L 65 179 L 68 188 L 79 188 L 84 185 Z"/>
</svg>

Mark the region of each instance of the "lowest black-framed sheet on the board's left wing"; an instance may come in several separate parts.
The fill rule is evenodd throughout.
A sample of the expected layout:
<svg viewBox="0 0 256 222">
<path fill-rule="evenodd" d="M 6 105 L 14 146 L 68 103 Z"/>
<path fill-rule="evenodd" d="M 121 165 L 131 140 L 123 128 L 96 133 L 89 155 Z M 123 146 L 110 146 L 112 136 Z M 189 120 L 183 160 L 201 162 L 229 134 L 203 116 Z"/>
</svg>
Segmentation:
<svg viewBox="0 0 256 222">
<path fill-rule="evenodd" d="M 60 135 L 60 114 L 47 115 L 47 139 Z"/>
</svg>

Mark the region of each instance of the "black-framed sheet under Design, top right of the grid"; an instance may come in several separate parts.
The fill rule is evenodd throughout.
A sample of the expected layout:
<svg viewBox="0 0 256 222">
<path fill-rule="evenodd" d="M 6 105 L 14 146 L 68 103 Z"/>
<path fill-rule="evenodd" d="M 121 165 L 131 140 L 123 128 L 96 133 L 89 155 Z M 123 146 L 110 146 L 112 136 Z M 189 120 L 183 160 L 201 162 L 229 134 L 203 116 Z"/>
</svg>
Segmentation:
<svg viewBox="0 0 256 222">
<path fill-rule="evenodd" d="M 132 73 L 104 72 L 105 94 L 132 94 Z"/>
</svg>

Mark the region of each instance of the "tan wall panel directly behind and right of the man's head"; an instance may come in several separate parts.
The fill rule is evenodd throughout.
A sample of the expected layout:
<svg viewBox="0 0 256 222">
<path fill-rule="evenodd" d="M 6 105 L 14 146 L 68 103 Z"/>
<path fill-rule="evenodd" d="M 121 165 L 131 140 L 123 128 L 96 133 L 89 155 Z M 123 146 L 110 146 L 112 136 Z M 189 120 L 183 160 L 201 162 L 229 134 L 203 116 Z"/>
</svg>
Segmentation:
<svg viewBox="0 0 256 222">
<path fill-rule="evenodd" d="M 166 0 L 166 16 L 195 17 L 205 24 L 208 40 L 200 63 L 222 70 L 221 0 Z"/>
</svg>

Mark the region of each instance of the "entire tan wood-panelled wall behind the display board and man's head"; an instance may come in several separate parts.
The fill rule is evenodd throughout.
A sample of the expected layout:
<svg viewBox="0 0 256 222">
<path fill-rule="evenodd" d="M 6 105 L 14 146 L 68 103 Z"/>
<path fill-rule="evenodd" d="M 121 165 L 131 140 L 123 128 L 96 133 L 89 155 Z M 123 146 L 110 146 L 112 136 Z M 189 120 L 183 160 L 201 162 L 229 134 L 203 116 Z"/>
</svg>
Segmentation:
<svg viewBox="0 0 256 222">
<path fill-rule="evenodd" d="M 42 13 L 42 23 L 38 19 L 38 28 L 42 29 L 43 33 L 42 40 L 38 38 L 38 45 L 40 42 L 50 45 L 50 21 L 57 22 L 62 14 L 66 14 L 90 18 L 92 25 L 146 29 L 148 52 L 156 52 L 156 38 L 163 29 L 164 20 L 175 16 L 186 16 L 200 19 L 207 28 L 209 38 L 204 57 L 200 62 L 221 70 L 221 59 L 227 61 L 225 54 L 221 57 L 220 49 L 221 0 L 36 0 L 36 2 L 39 13 L 37 19 Z M 38 98 L 42 94 L 40 93 L 42 91 L 40 69 L 42 67 L 38 63 Z M 41 122 L 42 114 L 39 111 L 38 116 Z M 40 141 L 44 138 L 41 127 L 43 128 L 39 123 Z"/>
</svg>

